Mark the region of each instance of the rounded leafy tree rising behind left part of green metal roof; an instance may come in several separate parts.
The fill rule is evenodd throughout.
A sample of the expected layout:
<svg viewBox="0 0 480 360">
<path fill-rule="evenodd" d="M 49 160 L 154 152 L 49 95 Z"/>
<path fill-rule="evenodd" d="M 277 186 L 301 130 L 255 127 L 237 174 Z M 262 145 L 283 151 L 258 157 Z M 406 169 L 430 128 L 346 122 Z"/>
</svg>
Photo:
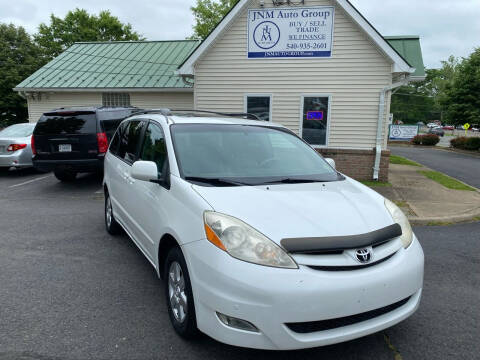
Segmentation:
<svg viewBox="0 0 480 360">
<path fill-rule="evenodd" d="M 78 8 L 64 19 L 50 15 L 50 24 L 40 24 L 34 38 L 48 60 L 79 41 L 143 40 L 130 24 L 123 24 L 110 11 L 97 16 Z"/>
</svg>

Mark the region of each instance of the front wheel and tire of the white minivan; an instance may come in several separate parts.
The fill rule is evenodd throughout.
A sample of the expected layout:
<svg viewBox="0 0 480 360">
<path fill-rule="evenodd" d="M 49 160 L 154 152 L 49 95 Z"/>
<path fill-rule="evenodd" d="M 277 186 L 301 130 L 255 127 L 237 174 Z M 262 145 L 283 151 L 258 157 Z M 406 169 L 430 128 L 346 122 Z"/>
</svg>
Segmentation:
<svg viewBox="0 0 480 360">
<path fill-rule="evenodd" d="M 165 299 L 170 322 L 178 335 L 192 339 L 198 335 L 195 304 L 187 264 L 180 248 L 170 250 L 164 271 Z"/>
</svg>

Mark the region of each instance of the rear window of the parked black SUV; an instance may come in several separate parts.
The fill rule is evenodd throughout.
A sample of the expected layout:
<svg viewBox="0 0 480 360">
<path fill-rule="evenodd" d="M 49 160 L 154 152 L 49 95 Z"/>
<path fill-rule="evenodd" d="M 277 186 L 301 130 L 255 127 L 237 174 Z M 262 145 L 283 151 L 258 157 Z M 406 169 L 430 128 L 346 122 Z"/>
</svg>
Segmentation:
<svg viewBox="0 0 480 360">
<path fill-rule="evenodd" d="M 95 134 L 97 118 L 95 114 L 43 115 L 35 127 L 35 135 L 56 134 Z"/>
</svg>

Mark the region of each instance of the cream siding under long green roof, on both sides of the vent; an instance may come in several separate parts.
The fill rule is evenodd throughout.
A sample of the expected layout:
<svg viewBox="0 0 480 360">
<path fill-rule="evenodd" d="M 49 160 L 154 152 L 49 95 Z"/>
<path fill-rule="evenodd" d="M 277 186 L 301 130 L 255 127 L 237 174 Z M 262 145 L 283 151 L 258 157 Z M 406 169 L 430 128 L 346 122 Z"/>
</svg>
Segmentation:
<svg viewBox="0 0 480 360">
<path fill-rule="evenodd" d="M 101 106 L 101 92 L 43 92 L 29 96 L 28 119 L 37 121 L 49 110 L 69 106 Z M 193 109 L 192 92 L 135 92 L 130 93 L 130 104 L 139 108 Z"/>
</svg>

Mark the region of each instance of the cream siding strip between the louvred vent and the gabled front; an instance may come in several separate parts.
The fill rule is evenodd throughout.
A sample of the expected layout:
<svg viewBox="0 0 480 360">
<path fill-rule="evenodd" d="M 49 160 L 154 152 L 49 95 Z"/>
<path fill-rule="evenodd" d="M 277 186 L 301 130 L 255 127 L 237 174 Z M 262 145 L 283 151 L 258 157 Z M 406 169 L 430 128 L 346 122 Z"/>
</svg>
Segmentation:
<svg viewBox="0 0 480 360">
<path fill-rule="evenodd" d="M 193 92 L 130 93 L 130 103 L 147 109 L 193 109 Z"/>
</svg>

